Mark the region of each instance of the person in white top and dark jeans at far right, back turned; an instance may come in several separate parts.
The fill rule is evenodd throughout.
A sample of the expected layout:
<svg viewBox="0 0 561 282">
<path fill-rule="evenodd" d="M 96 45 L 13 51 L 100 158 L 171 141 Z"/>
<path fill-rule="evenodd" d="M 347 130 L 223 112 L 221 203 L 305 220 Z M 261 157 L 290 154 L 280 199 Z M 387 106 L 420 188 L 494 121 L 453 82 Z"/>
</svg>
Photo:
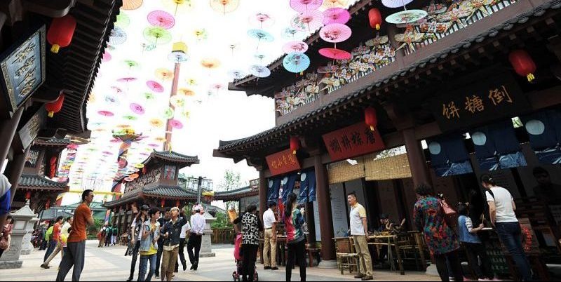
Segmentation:
<svg viewBox="0 0 561 282">
<path fill-rule="evenodd" d="M 522 247 L 522 229 L 514 211 L 516 205 L 507 189 L 496 186 L 489 175 L 481 176 L 481 184 L 487 191 L 485 197 L 489 204 L 491 224 L 496 228 L 499 239 L 511 254 L 523 281 L 532 281 L 532 268 Z"/>
</svg>

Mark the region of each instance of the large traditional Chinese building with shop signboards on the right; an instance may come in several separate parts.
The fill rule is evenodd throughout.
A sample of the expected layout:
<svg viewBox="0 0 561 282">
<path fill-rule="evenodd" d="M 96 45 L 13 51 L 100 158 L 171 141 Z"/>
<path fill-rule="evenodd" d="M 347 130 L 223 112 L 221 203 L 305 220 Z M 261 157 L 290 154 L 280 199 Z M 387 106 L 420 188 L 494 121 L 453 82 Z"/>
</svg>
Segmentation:
<svg viewBox="0 0 561 282">
<path fill-rule="evenodd" d="M 299 182 L 326 265 L 335 260 L 332 238 L 349 226 L 347 193 L 365 205 L 370 227 L 387 213 L 412 229 L 416 185 L 432 184 L 449 203 L 473 201 L 472 189 L 482 199 L 484 173 L 519 199 L 517 213 L 529 217 L 540 248 L 557 253 L 550 217 L 559 212 L 540 194 L 561 184 L 561 1 L 470 3 L 413 2 L 407 9 L 424 10 L 425 22 L 383 22 L 377 32 L 370 8 L 382 18 L 396 10 L 358 1 L 346 24 L 353 35 L 337 44 L 351 60 L 321 57 L 332 44 L 316 32 L 306 39 L 303 76 L 279 58 L 258 83 L 248 76 L 230 84 L 274 98 L 276 126 L 222 141 L 214 156 L 259 170 L 261 206 Z"/>
</svg>

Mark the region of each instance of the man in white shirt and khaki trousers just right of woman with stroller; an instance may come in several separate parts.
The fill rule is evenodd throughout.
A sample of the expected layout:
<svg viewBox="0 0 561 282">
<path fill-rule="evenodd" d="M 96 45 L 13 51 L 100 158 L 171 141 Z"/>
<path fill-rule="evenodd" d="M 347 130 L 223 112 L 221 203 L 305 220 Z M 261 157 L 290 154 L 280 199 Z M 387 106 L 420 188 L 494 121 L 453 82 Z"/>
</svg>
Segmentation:
<svg viewBox="0 0 561 282">
<path fill-rule="evenodd" d="M 265 269 L 277 270 L 276 267 L 276 203 L 269 202 L 269 209 L 263 213 L 263 227 L 265 229 L 265 245 L 263 260 Z"/>
</svg>

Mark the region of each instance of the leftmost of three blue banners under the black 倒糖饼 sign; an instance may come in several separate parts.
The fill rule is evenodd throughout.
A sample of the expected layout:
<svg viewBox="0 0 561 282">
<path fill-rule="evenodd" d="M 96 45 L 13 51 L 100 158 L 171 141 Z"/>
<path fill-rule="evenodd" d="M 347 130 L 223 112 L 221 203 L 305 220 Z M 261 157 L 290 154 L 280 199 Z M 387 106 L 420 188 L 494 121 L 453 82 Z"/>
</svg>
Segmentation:
<svg viewBox="0 0 561 282">
<path fill-rule="evenodd" d="M 440 177 L 473 173 L 464 136 L 453 134 L 427 140 L 431 166 Z"/>
</svg>

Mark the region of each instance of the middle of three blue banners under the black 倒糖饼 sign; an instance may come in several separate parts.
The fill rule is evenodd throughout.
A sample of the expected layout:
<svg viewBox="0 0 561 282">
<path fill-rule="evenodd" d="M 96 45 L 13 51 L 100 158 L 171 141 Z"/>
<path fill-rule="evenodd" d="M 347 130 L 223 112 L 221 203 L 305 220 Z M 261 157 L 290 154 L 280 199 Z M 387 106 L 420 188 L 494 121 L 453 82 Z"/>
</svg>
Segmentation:
<svg viewBox="0 0 561 282">
<path fill-rule="evenodd" d="M 475 128 L 470 134 L 481 170 L 527 166 L 510 119 Z"/>
</svg>

